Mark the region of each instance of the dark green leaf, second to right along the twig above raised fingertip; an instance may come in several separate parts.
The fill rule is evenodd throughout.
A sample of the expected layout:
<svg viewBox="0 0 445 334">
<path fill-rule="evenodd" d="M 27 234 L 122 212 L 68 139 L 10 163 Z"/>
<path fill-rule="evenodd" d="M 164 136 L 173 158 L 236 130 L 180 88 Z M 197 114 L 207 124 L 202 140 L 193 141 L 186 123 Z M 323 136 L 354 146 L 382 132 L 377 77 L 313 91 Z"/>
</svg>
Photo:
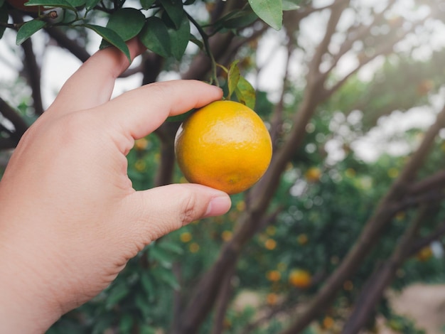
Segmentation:
<svg viewBox="0 0 445 334">
<path fill-rule="evenodd" d="M 163 58 L 171 55 L 170 36 L 161 18 L 152 16 L 149 18 L 139 35 L 142 44 Z"/>
</svg>

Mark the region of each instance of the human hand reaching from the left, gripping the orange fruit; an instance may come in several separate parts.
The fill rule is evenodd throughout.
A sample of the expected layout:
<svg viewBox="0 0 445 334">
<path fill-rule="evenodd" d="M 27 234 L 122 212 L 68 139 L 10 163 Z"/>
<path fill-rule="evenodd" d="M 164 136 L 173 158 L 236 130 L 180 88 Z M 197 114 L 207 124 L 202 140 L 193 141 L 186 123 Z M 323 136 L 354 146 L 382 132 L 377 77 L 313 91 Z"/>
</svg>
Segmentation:
<svg viewBox="0 0 445 334">
<path fill-rule="evenodd" d="M 142 51 L 136 40 L 129 49 L 133 57 Z M 128 65 L 114 48 L 93 55 L 9 161 L 0 181 L 5 333 L 43 333 L 106 288 L 146 244 L 230 208 L 227 194 L 202 185 L 132 188 L 126 154 L 134 139 L 222 92 L 197 81 L 163 82 L 109 101 Z"/>
</svg>

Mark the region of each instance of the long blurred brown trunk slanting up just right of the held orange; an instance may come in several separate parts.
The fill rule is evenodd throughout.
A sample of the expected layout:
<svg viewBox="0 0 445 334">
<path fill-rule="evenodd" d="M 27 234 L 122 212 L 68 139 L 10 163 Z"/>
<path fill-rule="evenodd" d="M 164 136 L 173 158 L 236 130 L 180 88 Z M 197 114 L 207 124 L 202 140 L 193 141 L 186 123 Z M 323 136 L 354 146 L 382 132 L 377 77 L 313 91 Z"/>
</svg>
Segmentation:
<svg viewBox="0 0 445 334">
<path fill-rule="evenodd" d="M 343 3 L 343 1 L 341 1 Z M 335 31 L 336 23 L 338 22 L 343 7 L 333 8 L 333 19 L 331 19 L 331 30 L 326 32 L 324 43 L 318 48 L 318 52 L 326 51 L 326 41 L 330 40 Z M 321 57 L 319 59 L 321 61 Z M 318 64 L 319 65 L 319 64 Z M 237 225 L 233 238 L 223 245 L 220 256 L 213 264 L 213 267 L 208 271 L 203 279 L 198 284 L 198 289 L 195 295 L 191 298 L 188 308 L 183 313 L 181 331 L 178 333 L 196 333 L 200 323 L 203 321 L 207 313 L 213 306 L 215 298 L 218 296 L 218 289 L 220 285 L 220 277 L 223 276 L 227 268 L 234 266 L 240 257 L 240 252 L 245 243 L 252 238 L 257 231 L 256 224 L 261 220 L 265 210 L 272 198 L 274 190 L 279 184 L 279 178 L 286 166 L 289 157 L 294 153 L 304 137 L 304 128 L 309 122 L 316 106 L 320 102 L 318 94 L 319 88 L 323 82 L 316 80 L 318 77 L 318 65 L 312 65 L 308 75 L 308 89 L 304 96 L 304 100 L 299 107 L 299 112 L 296 114 L 295 126 L 291 132 L 291 136 L 282 149 L 272 158 L 271 167 L 269 168 L 269 176 L 264 176 L 263 180 L 257 183 L 252 188 L 249 194 L 250 205 L 246 212 L 243 212 L 242 217 Z M 271 172 L 272 171 L 272 172 Z"/>
</svg>

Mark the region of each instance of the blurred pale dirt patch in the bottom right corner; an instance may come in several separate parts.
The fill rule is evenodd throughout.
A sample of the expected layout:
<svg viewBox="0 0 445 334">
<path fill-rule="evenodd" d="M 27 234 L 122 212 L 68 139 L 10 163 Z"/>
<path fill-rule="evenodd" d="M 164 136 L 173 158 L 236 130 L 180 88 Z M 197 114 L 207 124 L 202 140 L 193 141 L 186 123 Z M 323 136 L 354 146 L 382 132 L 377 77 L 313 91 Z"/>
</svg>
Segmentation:
<svg viewBox="0 0 445 334">
<path fill-rule="evenodd" d="M 414 284 L 391 299 L 397 313 L 415 320 L 427 334 L 445 334 L 445 285 Z"/>
</svg>

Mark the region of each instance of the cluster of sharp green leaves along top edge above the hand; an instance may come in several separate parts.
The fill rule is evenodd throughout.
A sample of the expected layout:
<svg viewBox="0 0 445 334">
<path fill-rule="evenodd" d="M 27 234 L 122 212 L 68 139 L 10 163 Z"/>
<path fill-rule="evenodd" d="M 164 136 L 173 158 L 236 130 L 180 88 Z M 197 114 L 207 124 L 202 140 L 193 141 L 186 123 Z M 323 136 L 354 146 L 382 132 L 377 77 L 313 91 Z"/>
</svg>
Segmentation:
<svg viewBox="0 0 445 334">
<path fill-rule="evenodd" d="M 102 46 L 114 45 L 122 50 L 129 58 L 129 52 L 124 42 L 141 33 L 140 38 L 144 45 L 163 58 L 174 57 L 181 60 L 191 36 L 191 25 L 200 31 L 201 38 L 208 36 L 198 23 L 188 15 L 186 6 L 195 1 L 181 0 L 141 0 L 141 8 L 124 7 L 124 1 L 99 0 L 30 0 L 26 6 L 43 6 L 36 18 L 19 25 L 16 43 L 19 45 L 45 26 L 68 26 L 79 29 L 89 28 L 95 31 L 107 43 Z M 298 1 L 285 1 L 284 9 L 296 9 Z M 275 0 L 249 0 L 250 6 L 235 10 L 227 14 L 214 24 L 213 33 L 221 29 L 237 29 L 249 26 L 257 18 L 261 18 L 275 29 L 282 27 L 282 1 Z M 1 4 L 1 7 L 9 7 Z M 56 14 L 54 9 L 61 9 L 62 14 Z M 4 9 L 1 9 L 1 21 L 6 23 Z M 95 16 L 100 13 L 109 15 L 106 26 L 94 22 Z M 53 16 L 59 16 L 54 18 Z M 48 19 L 50 18 L 50 19 Z M 92 22 L 93 21 L 93 22 Z M 6 28 L 1 26 L 0 37 Z M 203 43 L 205 45 L 205 43 Z"/>
</svg>

